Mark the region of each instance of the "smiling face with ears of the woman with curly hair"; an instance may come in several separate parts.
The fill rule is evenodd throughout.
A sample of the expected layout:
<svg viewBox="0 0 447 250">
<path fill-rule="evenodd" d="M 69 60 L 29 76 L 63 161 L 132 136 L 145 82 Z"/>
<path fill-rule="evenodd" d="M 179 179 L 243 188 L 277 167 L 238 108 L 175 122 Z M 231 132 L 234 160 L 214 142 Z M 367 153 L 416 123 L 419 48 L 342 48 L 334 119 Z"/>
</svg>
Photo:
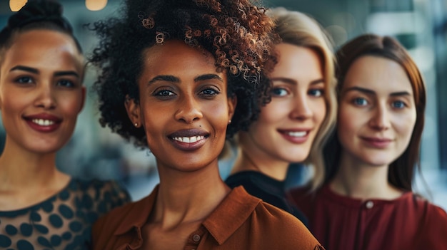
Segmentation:
<svg viewBox="0 0 447 250">
<path fill-rule="evenodd" d="M 235 102 L 214 57 L 181 41 L 143 53 L 139 103 L 126 102 L 132 123 L 146 131 L 159 168 L 194 171 L 212 163 L 224 147 Z"/>
</svg>

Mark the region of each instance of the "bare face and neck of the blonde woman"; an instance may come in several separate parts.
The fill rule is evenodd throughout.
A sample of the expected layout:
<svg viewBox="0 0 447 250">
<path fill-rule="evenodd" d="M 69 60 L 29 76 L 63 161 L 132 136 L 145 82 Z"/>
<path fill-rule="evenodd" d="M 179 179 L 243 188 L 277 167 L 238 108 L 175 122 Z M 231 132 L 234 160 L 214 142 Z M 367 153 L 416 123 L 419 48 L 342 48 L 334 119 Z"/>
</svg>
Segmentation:
<svg viewBox="0 0 447 250">
<path fill-rule="evenodd" d="M 326 115 L 321 61 L 310 48 L 276 46 L 271 103 L 248 132 L 239 132 L 241 150 L 231 174 L 246 170 L 286 178 L 291 162 L 306 160 Z"/>
</svg>

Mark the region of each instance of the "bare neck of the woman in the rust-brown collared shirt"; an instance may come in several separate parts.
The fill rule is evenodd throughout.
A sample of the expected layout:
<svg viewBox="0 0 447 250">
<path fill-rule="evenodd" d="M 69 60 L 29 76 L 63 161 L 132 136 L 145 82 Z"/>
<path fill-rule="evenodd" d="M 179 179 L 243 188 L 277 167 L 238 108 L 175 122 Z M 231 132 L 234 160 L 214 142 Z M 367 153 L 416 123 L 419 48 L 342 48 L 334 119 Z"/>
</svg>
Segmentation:
<svg viewBox="0 0 447 250">
<path fill-rule="evenodd" d="M 219 175 L 217 160 L 193 172 L 159 167 L 159 175 L 159 194 L 150 222 L 164 229 L 204 221 L 230 192 Z"/>
</svg>

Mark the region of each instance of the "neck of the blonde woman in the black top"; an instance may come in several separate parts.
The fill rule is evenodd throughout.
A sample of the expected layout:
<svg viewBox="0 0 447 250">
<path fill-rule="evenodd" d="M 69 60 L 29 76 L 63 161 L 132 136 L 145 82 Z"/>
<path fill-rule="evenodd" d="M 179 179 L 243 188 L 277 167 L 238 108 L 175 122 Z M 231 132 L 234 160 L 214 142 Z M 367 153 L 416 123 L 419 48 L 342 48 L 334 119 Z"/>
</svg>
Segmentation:
<svg viewBox="0 0 447 250">
<path fill-rule="evenodd" d="M 242 171 L 257 171 L 273 179 L 286 179 L 289 162 L 272 159 L 267 154 L 255 154 L 251 150 L 239 148 L 231 175 Z"/>
</svg>

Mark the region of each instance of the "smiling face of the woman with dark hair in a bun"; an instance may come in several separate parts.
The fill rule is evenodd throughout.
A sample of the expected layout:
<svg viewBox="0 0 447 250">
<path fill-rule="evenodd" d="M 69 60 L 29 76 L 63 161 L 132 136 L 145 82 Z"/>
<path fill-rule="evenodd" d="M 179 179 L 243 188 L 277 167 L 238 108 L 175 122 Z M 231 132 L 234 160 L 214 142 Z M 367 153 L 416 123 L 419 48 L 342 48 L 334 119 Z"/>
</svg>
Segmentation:
<svg viewBox="0 0 447 250">
<path fill-rule="evenodd" d="M 71 137 L 84 105 L 84 59 L 64 33 L 19 33 L 0 68 L 6 145 L 55 152 Z"/>
</svg>

